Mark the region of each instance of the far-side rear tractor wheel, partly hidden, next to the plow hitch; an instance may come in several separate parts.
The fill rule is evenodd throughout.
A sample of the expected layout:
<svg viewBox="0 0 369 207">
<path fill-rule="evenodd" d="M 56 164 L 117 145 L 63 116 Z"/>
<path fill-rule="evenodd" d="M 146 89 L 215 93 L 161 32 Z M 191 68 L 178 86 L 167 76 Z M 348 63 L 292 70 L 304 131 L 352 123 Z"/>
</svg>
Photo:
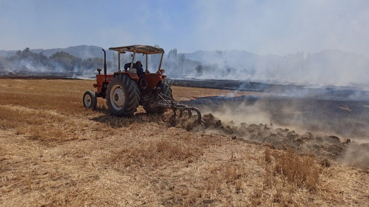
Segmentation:
<svg viewBox="0 0 369 207">
<path fill-rule="evenodd" d="M 163 98 L 165 100 L 173 100 L 172 88 L 167 80 L 161 80 L 158 83 L 157 87 L 159 88 L 159 92 L 164 95 Z M 157 95 L 154 96 L 156 96 L 153 97 L 154 100 L 160 101 L 160 97 L 158 97 Z M 164 113 L 167 110 L 167 107 L 157 106 L 155 103 L 154 104 L 144 103 L 142 106 L 144 107 L 147 113 Z"/>
</svg>

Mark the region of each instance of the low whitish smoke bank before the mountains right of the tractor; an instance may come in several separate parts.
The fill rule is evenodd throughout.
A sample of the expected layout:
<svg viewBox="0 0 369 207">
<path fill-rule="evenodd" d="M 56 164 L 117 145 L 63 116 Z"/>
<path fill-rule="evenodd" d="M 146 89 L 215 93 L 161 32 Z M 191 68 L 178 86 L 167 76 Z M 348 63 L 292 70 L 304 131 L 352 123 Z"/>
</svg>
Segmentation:
<svg viewBox="0 0 369 207">
<path fill-rule="evenodd" d="M 369 59 L 339 50 L 304 55 L 256 55 L 246 51 L 213 51 L 185 54 L 198 61 L 187 68 L 186 78 L 247 80 L 305 86 L 357 86 L 367 84 Z"/>
</svg>

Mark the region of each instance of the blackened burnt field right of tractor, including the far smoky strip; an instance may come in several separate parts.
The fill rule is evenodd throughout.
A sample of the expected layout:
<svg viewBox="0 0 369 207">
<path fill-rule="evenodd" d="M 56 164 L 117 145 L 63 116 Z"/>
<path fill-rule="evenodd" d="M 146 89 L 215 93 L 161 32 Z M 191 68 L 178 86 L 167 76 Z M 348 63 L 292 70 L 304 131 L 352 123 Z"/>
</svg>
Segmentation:
<svg viewBox="0 0 369 207">
<path fill-rule="evenodd" d="M 260 111 L 270 122 L 290 129 L 297 128 L 353 140 L 369 140 L 369 90 L 356 87 L 308 88 L 256 82 L 209 80 L 172 81 L 173 85 L 265 92 L 261 96 L 203 97 L 184 102 L 206 112 L 226 109 L 229 117 L 257 116 Z M 255 110 L 254 110 L 255 109 Z M 252 120 L 251 120 L 252 121 Z"/>
</svg>

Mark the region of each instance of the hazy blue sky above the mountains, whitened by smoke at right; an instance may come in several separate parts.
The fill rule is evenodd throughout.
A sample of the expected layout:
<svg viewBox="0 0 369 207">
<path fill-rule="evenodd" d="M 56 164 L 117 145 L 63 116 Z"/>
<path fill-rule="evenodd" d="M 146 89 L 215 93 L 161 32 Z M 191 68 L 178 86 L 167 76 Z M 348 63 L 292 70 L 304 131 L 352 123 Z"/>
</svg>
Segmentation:
<svg viewBox="0 0 369 207">
<path fill-rule="evenodd" d="M 159 44 L 369 57 L 369 0 L 0 0 L 0 50 Z"/>
</svg>

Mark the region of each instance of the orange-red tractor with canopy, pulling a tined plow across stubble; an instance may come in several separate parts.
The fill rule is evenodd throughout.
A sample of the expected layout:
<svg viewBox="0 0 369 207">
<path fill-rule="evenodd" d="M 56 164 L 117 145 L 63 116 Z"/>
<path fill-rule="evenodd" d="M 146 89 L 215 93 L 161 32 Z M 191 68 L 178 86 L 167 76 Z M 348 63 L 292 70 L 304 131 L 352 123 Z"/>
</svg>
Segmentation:
<svg viewBox="0 0 369 207">
<path fill-rule="evenodd" d="M 147 113 L 164 113 L 168 109 L 173 110 L 173 115 L 169 122 L 172 126 L 177 122 L 178 116 L 183 115 L 183 111 L 188 112 L 191 117 L 192 112 L 197 113 L 197 123 L 204 125 L 201 113 L 196 107 L 187 106 L 173 99 L 172 88 L 161 69 L 164 50 L 159 47 L 149 45 L 131 45 L 123 47 L 111 47 L 109 50 L 118 52 L 118 71 L 114 74 L 107 74 L 106 51 L 104 52 L 104 74 L 98 68 L 96 75 L 96 92 L 86 91 L 83 95 L 83 105 L 88 109 L 95 109 L 97 98 L 106 99 L 109 111 L 118 116 L 131 116 L 137 111 L 137 107 L 142 105 Z M 120 55 L 131 52 L 132 61 L 129 69 L 121 70 Z M 144 74 L 138 74 L 134 62 L 137 54 L 146 56 L 146 70 Z M 148 69 L 148 55 L 161 54 L 159 68 L 155 73 L 150 73 Z M 142 73 L 142 72 L 141 72 Z"/>
</svg>

